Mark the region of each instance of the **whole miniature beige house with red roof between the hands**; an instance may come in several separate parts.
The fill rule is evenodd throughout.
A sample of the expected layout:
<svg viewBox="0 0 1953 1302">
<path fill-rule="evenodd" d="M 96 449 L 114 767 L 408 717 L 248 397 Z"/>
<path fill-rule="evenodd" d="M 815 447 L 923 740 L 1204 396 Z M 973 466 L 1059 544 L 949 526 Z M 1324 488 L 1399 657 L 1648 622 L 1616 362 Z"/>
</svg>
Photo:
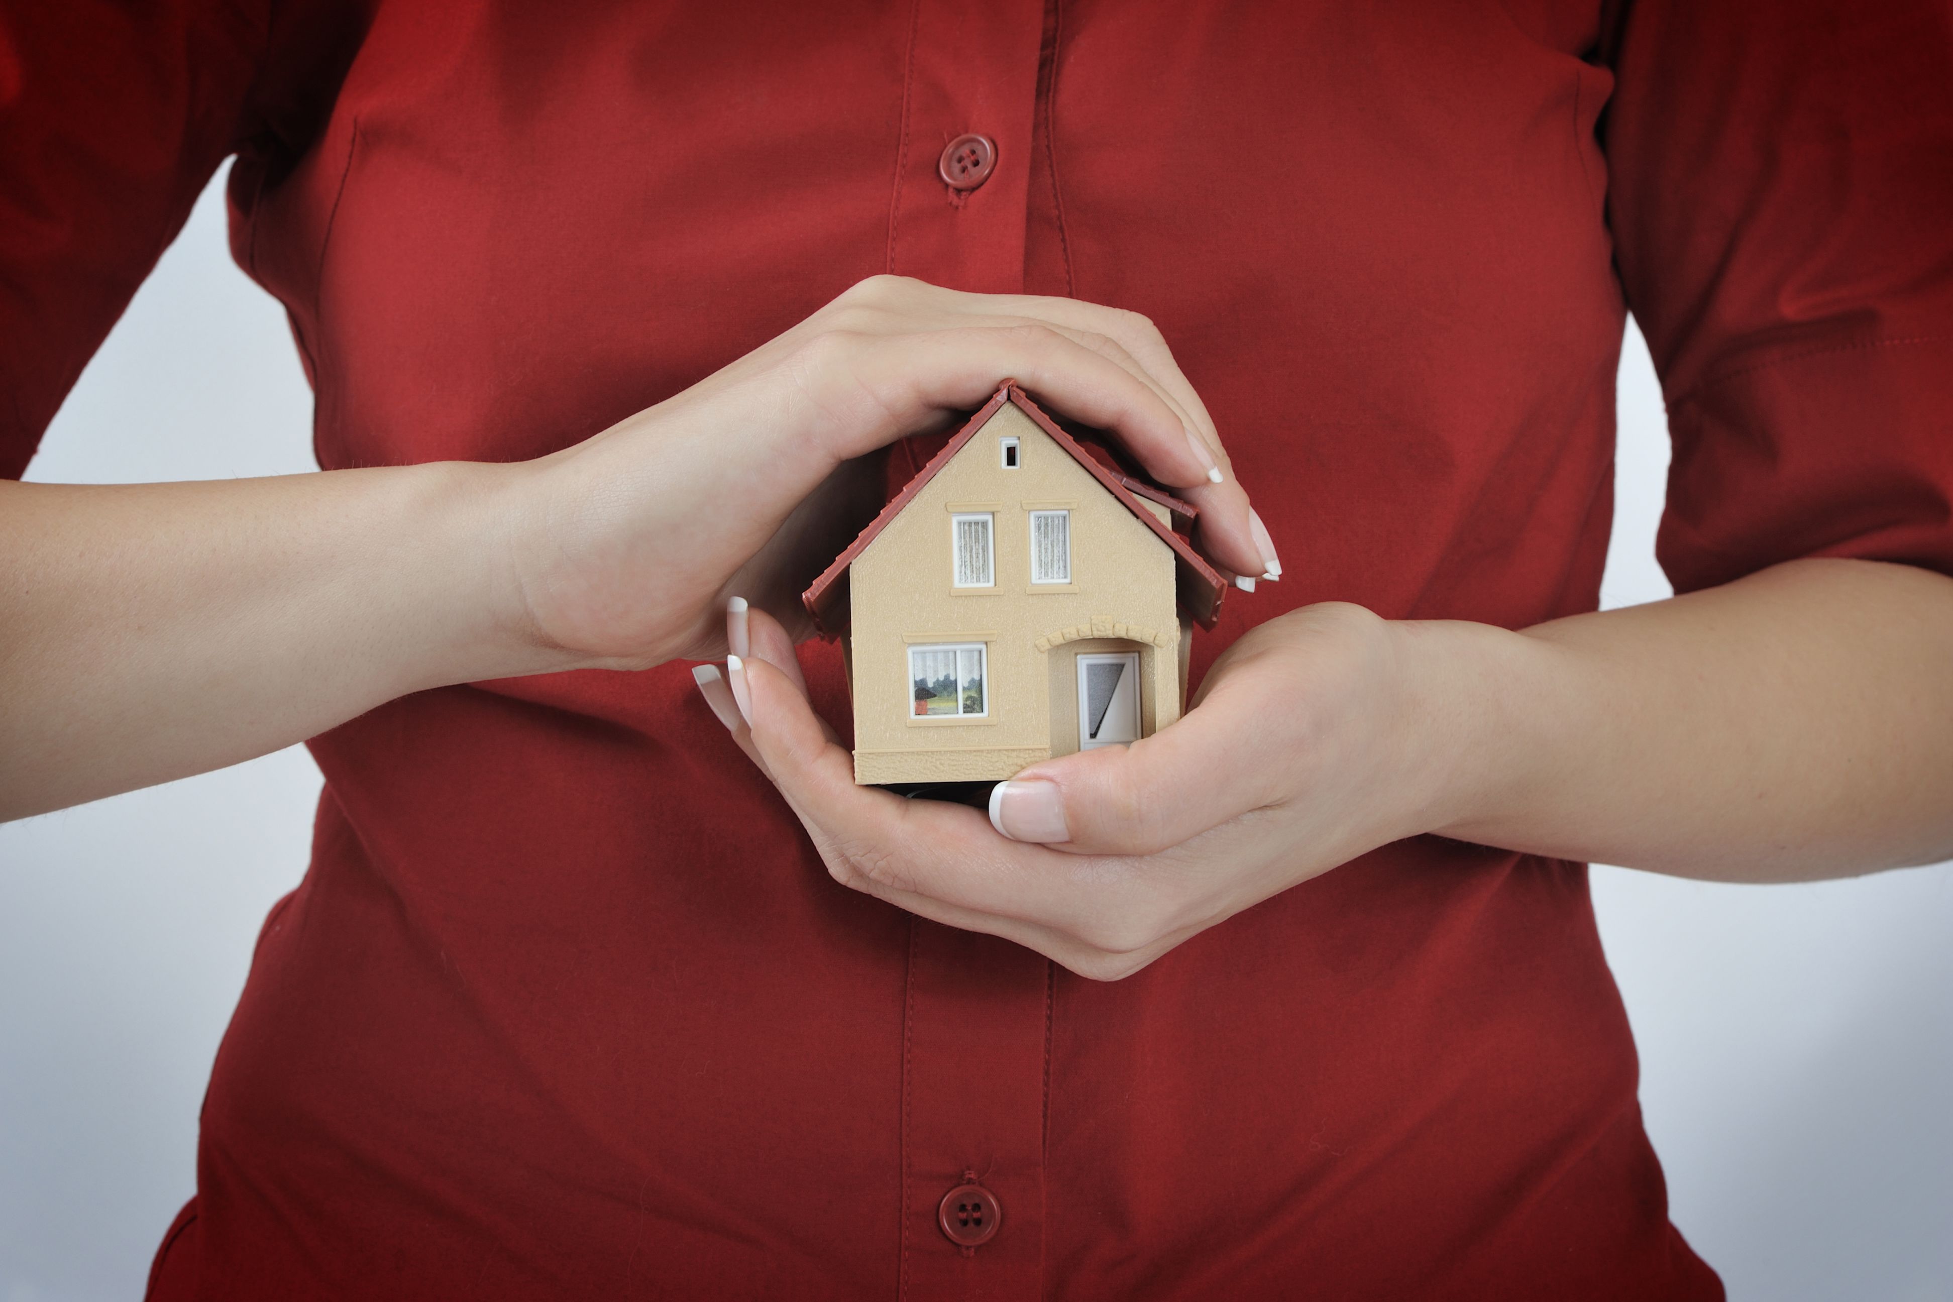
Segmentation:
<svg viewBox="0 0 1953 1302">
<path fill-rule="evenodd" d="M 1193 508 L 1006 383 L 814 580 L 857 783 L 1006 779 L 1180 718 L 1226 584 Z"/>
</svg>

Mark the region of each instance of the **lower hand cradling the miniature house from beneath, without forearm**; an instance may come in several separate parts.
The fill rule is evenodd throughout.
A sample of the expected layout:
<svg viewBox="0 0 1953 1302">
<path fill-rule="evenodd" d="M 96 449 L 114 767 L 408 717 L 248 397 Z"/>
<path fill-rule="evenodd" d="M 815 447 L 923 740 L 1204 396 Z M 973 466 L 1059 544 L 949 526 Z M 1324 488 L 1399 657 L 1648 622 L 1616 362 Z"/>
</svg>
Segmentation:
<svg viewBox="0 0 1953 1302">
<path fill-rule="evenodd" d="M 1131 748 L 1031 765 L 998 787 L 990 818 L 857 787 L 853 757 L 807 703 L 787 634 L 760 611 L 730 623 L 730 681 L 701 668 L 699 685 L 834 878 L 1080 976 L 1129 976 L 1439 820 L 1424 730 L 1443 726 L 1441 711 L 1406 671 L 1418 634 L 1355 605 L 1252 629 L 1180 722 Z"/>
</svg>

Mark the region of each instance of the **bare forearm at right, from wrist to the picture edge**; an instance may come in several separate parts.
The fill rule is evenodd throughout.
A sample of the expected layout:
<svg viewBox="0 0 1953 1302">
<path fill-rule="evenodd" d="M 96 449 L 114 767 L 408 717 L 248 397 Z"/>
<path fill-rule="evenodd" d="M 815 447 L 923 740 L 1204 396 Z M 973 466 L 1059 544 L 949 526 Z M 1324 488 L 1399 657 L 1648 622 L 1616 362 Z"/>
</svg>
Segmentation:
<svg viewBox="0 0 1953 1302">
<path fill-rule="evenodd" d="M 1434 830 L 1683 876 L 1953 857 L 1953 580 L 1807 560 L 1525 632 L 1400 625 Z"/>
</svg>

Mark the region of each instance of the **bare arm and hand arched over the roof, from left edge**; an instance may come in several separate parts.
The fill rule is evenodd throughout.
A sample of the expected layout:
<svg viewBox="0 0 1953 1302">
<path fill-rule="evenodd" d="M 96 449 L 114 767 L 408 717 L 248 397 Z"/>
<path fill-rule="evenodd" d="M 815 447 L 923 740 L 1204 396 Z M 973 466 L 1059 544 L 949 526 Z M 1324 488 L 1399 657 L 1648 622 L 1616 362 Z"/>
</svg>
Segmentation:
<svg viewBox="0 0 1953 1302">
<path fill-rule="evenodd" d="M 250 759 L 410 691 L 723 654 L 730 591 L 789 611 L 881 506 L 869 453 L 1002 377 L 1117 431 L 1201 508 L 1219 564 L 1266 568 L 1148 320 L 875 277 L 531 463 L 0 482 L 0 818 Z"/>
</svg>

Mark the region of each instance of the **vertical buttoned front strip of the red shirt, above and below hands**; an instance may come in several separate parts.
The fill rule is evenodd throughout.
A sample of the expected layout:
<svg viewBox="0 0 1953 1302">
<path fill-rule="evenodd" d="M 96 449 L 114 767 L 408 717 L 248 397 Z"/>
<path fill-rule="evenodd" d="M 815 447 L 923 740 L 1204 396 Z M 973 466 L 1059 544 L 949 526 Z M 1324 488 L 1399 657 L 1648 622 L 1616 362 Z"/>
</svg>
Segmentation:
<svg viewBox="0 0 1953 1302">
<path fill-rule="evenodd" d="M 891 271 L 1023 293 L 1043 35 L 1045 0 L 916 2 Z M 990 935 L 910 927 L 900 1296 L 1037 1298 L 1051 966 Z M 982 1195 L 945 1208 L 965 1185 Z"/>
</svg>

